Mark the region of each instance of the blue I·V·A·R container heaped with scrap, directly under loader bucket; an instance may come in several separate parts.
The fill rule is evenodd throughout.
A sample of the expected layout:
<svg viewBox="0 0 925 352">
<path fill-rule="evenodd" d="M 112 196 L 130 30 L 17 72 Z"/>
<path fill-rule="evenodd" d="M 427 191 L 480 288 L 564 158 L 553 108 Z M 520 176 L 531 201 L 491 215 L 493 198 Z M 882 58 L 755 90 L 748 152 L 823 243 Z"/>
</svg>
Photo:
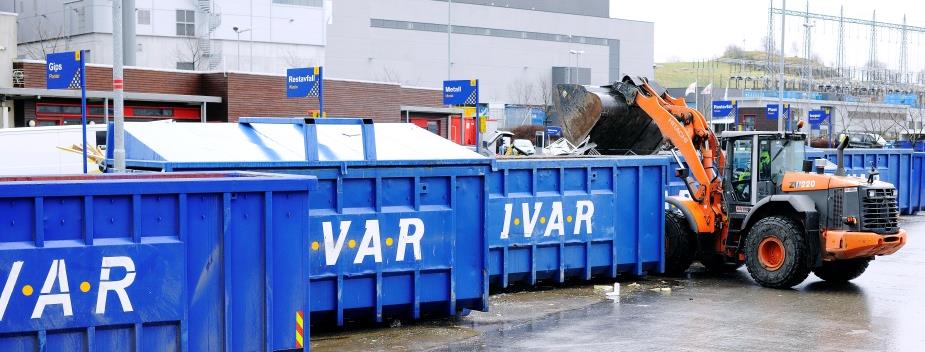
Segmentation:
<svg viewBox="0 0 925 352">
<path fill-rule="evenodd" d="M 664 271 L 668 160 L 497 160 L 485 231 L 492 284 Z"/>
</svg>

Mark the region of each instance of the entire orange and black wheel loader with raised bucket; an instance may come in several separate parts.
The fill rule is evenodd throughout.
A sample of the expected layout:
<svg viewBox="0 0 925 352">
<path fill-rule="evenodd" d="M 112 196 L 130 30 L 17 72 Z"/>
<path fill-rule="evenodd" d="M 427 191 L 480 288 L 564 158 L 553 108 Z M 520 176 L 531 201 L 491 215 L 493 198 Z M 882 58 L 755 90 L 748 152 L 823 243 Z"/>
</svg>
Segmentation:
<svg viewBox="0 0 925 352">
<path fill-rule="evenodd" d="M 560 85 L 555 100 L 570 140 L 590 136 L 602 154 L 667 149 L 684 159 L 677 160 L 675 174 L 690 198 L 668 197 L 667 274 L 683 273 L 699 260 L 713 271 L 744 264 L 756 282 L 774 288 L 797 285 L 811 271 L 847 281 L 906 242 L 896 188 L 875 181 L 873 170 L 866 179 L 846 177 L 845 140 L 838 170 L 826 175 L 824 163 L 805 161 L 804 134 L 726 132 L 718 138 L 684 99 L 643 78 L 604 87 Z"/>
</svg>

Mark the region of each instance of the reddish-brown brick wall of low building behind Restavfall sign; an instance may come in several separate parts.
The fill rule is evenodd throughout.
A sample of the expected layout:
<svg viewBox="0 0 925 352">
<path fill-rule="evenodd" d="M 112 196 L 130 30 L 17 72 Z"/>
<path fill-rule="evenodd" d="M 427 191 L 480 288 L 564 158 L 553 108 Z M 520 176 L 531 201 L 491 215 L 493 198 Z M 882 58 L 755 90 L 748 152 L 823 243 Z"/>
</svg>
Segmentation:
<svg viewBox="0 0 925 352">
<path fill-rule="evenodd" d="M 26 88 L 45 88 L 43 63 L 16 62 L 13 66 L 23 70 Z M 87 86 L 90 90 L 112 90 L 111 68 L 91 66 L 87 71 Z M 439 89 L 329 79 L 324 83 L 325 111 L 331 117 L 363 117 L 382 122 L 398 122 L 402 118 L 402 105 L 443 106 Z M 286 98 L 285 89 L 285 76 L 125 70 L 127 92 L 221 97 L 221 104 L 209 104 L 209 121 L 235 122 L 243 116 L 308 116 L 310 111 L 318 110 L 317 98 L 289 99 Z"/>
</svg>

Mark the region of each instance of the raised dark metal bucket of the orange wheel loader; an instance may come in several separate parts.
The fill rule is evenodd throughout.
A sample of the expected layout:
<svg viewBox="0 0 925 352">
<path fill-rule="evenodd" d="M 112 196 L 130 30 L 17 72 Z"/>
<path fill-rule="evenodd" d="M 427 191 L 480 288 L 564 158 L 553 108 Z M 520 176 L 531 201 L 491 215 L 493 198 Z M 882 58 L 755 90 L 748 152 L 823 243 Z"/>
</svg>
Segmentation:
<svg viewBox="0 0 925 352">
<path fill-rule="evenodd" d="M 658 126 L 614 85 L 560 84 L 556 93 L 556 112 L 569 142 L 577 145 L 590 137 L 605 155 L 658 153 L 664 140 Z"/>
</svg>

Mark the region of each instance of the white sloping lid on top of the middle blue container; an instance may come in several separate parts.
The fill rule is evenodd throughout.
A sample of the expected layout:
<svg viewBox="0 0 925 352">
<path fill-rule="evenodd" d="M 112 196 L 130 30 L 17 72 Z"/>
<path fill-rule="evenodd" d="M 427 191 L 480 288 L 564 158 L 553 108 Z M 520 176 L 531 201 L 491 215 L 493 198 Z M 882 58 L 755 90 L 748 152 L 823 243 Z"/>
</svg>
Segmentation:
<svg viewBox="0 0 925 352">
<path fill-rule="evenodd" d="M 409 123 L 376 123 L 376 160 L 486 157 Z M 364 160 L 361 125 L 315 125 L 317 161 Z M 127 160 L 165 162 L 306 161 L 298 124 L 126 123 Z M 314 160 L 312 160 L 314 161 Z"/>
</svg>

